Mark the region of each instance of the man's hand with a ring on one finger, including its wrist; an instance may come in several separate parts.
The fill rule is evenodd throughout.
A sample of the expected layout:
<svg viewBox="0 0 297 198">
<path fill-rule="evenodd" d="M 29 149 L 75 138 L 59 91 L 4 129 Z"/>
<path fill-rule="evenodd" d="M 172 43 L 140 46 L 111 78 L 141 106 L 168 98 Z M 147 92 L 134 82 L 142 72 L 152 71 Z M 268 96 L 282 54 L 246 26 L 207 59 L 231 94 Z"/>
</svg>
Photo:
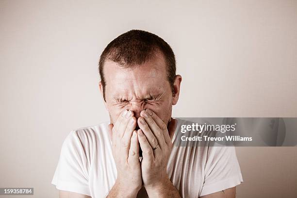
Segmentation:
<svg viewBox="0 0 297 198">
<path fill-rule="evenodd" d="M 140 147 L 143 152 L 141 175 L 149 197 L 180 197 L 178 191 L 169 180 L 166 172 L 168 158 L 172 148 L 169 134 L 176 128 L 176 120 L 166 124 L 155 113 L 147 109 L 138 118 L 137 131 Z"/>
</svg>

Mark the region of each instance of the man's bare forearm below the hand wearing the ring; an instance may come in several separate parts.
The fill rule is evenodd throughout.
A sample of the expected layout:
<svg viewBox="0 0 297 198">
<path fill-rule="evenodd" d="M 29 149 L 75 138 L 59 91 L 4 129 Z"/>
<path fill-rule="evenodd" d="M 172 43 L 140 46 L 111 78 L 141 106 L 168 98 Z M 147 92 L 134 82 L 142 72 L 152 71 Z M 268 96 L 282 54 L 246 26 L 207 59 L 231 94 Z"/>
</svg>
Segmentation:
<svg viewBox="0 0 297 198">
<path fill-rule="evenodd" d="M 169 179 L 154 186 L 146 187 L 149 198 L 181 198 L 179 191 Z"/>
</svg>

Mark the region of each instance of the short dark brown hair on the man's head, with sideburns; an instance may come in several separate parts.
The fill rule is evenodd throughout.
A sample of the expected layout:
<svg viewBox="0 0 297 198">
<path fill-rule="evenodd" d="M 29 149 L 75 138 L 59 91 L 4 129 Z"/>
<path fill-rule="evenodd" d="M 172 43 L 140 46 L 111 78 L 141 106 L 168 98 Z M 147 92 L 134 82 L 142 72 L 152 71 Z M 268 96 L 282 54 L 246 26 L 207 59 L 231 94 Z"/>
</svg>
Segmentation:
<svg viewBox="0 0 297 198">
<path fill-rule="evenodd" d="M 144 64 L 154 58 L 156 52 L 163 53 L 167 66 L 167 79 L 173 92 L 176 75 L 176 61 L 171 47 L 159 36 L 142 30 L 131 30 L 123 33 L 110 42 L 103 50 L 99 60 L 99 75 L 103 86 L 105 100 L 105 79 L 103 66 L 111 60 L 120 66 L 132 67 Z"/>
</svg>

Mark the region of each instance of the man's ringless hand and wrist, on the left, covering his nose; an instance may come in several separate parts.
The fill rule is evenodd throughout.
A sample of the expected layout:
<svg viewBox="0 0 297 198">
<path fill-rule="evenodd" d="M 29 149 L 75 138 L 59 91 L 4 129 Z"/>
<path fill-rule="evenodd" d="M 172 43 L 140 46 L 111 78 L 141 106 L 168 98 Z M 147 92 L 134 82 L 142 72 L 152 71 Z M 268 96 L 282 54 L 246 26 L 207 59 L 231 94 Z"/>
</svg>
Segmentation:
<svg viewBox="0 0 297 198">
<path fill-rule="evenodd" d="M 109 125 L 117 178 L 108 197 L 133 198 L 137 196 L 142 186 L 139 144 L 135 127 L 136 118 L 132 111 L 127 110 L 118 116 L 114 126 Z"/>
</svg>

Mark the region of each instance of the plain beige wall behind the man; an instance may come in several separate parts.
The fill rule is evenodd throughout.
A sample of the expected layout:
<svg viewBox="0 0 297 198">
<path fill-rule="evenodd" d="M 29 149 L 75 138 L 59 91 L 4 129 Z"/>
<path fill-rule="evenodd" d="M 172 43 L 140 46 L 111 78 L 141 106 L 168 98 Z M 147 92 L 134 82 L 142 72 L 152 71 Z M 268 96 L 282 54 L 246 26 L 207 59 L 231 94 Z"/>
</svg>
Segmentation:
<svg viewBox="0 0 297 198">
<path fill-rule="evenodd" d="M 108 120 L 99 54 L 131 29 L 177 56 L 174 116 L 297 117 L 296 0 L 0 0 L 0 187 L 58 197 L 50 181 L 64 138 Z M 237 155 L 238 198 L 297 197 L 296 147 Z"/>
</svg>

